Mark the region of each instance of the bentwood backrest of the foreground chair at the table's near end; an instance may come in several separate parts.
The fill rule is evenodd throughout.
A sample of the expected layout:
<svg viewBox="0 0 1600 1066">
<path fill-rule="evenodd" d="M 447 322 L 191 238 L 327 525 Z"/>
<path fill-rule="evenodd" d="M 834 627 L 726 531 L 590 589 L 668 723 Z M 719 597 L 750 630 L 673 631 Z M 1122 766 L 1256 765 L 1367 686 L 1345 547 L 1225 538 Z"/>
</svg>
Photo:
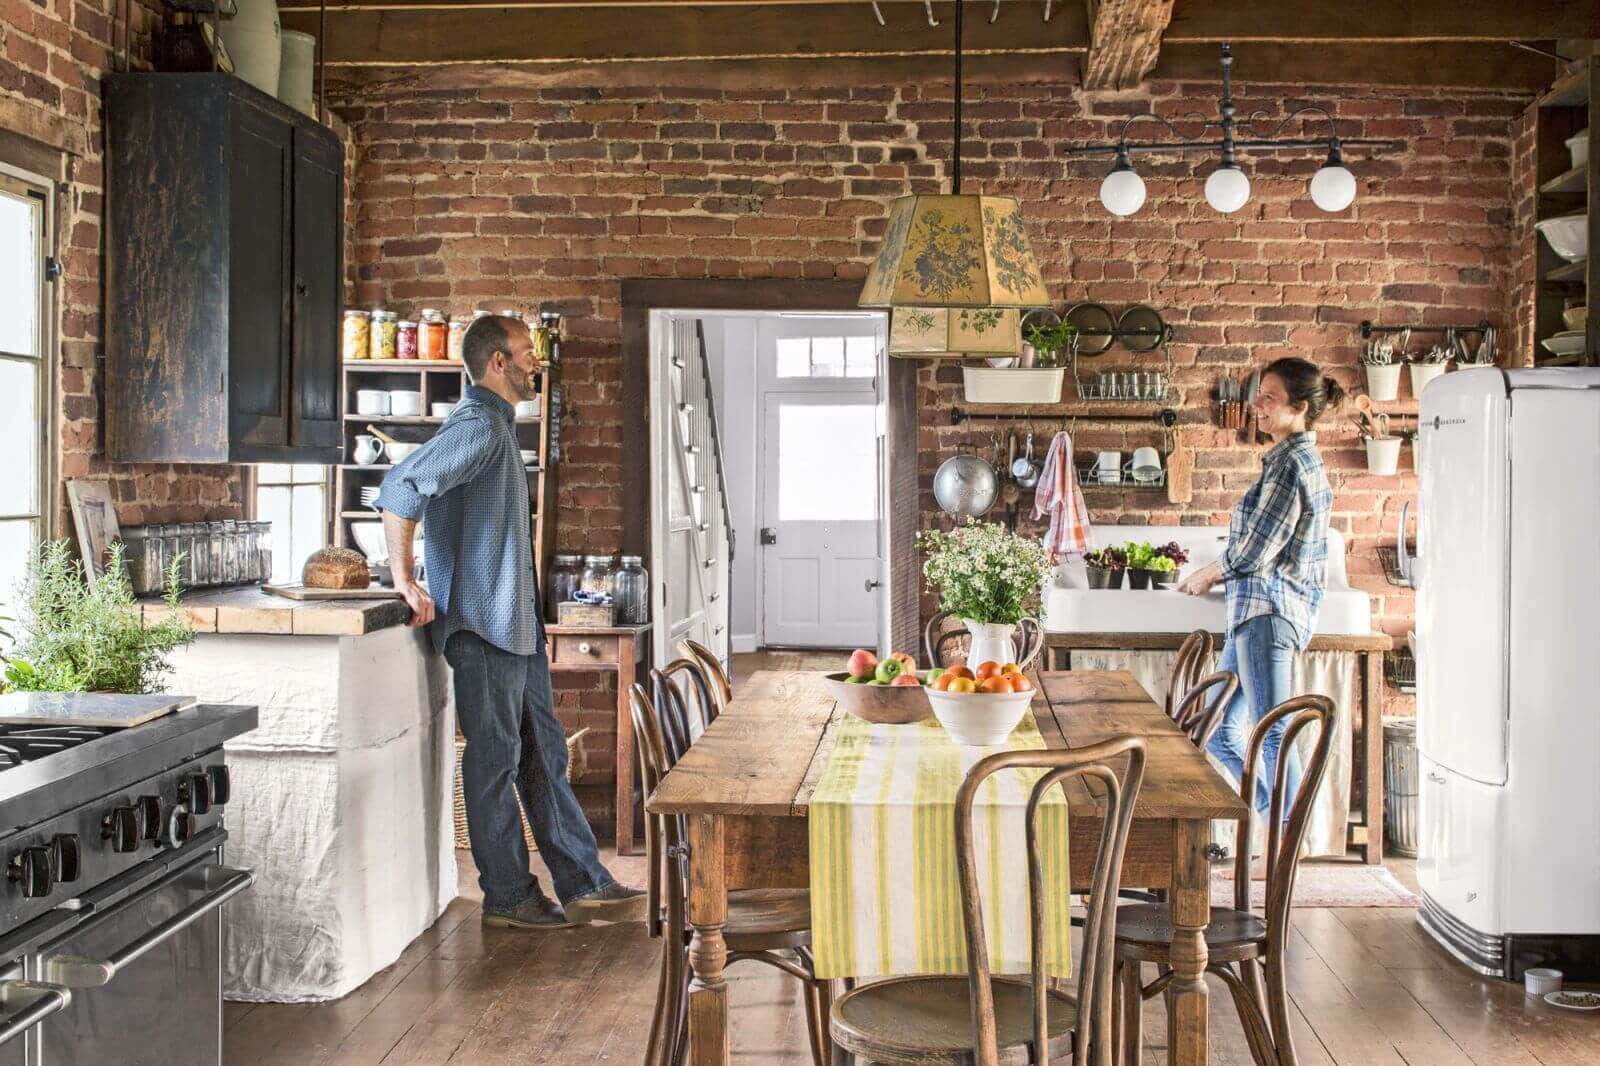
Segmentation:
<svg viewBox="0 0 1600 1066">
<path fill-rule="evenodd" d="M 1107 765 L 1126 755 L 1122 778 Z M 966 976 L 973 1008 L 973 1048 L 976 1066 L 998 1066 L 1000 1048 L 995 1032 L 994 975 L 989 970 L 989 944 L 984 933 L 982 896 L 978 863 L 973 855 L 973 800 L 979 786 L 994 773 L 1011 768 L 1037 768 L 1045 775 L 1027 797 L 1027 914 L 1032 930 L 1030 981 L 1034 997 L 1034 1050 L 1048 1047 L 1048 976 L 1045 938 L 1045 892 L 1038 856 L 1038 807 L 1051 787 L 1061 784 L 1066 794 L 1069 778 L 1091 778 L 1101 784 L 1104 821 L 1099 852 L 1094 856 L 1094 879 L 1090 890 L 1088 919 L 1083 924 L 1083 957 L 1078 968 L 1078 1028 L 1074 1032 L 1074 1063 L 1110 1066 L 1110 976 L 1112 941 L 1117 932 L 1117 890 L 1122 884 L 1122 858 L 1133 823 L 1133 805 L 1144 781 L 1144 741 L 1117 736 L 1074 751 L 1032 749 L 1002 751 L 979 760 L 955 794 L 955 856 L 962 884 L 962 922 L 966 933 Z M 1093 1055 L 1093 1058 L 1091 1058 Z M 1043 1060 L 1040 1060 L 1043 1061 Z"/>
</svg>

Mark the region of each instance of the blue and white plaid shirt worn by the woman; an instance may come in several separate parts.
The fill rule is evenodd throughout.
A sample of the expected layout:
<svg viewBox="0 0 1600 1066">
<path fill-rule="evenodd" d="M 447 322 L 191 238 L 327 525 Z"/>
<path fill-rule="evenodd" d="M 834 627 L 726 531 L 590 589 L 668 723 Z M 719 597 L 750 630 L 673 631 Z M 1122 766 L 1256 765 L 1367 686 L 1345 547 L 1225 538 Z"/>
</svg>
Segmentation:
<svg viewBox="0 0 1600 1066">
<path fill-rule="evenodd" d="M 1222 552 L 1229 632 L 1277 615 L 1294 627 L 1301 650 L 1317 627 L 1328 586 L 1328 512 L 1333 490 L 1317 439 L 1294 434 L 1267 450 L 1261 477 L 1234 507 Z"/>
</svg>

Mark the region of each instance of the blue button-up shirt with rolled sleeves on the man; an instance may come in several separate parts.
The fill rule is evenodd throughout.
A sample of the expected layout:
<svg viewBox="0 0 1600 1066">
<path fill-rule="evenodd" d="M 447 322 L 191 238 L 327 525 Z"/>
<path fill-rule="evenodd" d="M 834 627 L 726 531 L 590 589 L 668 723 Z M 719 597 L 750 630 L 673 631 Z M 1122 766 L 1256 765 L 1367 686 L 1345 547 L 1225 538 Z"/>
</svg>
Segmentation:
<svg viewBox="0 0 1600 1066">
<path fill-rule="evenodd" d="M 517 410 L 467 386 L 432 440 L 389 471 L 378 509 L 422 520 L 434 647 L 467 629 L 512 655 L 544 648 Z"/>
</svg>

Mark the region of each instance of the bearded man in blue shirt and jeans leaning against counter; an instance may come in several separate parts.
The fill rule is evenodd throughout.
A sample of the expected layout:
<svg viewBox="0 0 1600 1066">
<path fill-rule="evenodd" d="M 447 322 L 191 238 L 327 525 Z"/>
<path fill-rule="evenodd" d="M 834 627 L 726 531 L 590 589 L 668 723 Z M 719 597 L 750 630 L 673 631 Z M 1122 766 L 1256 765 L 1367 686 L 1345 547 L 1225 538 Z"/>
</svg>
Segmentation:
<svg viewBox="0 0 1600 1066">
<path fill-rule="evenodd" d="M 642 920 L 643 893 L 616 884 L 600 864 L 566 783 L 566 736 L 554 712 L 539 619 L 528 475 L 514 427 L 517 400 L 538 391 L 533 336 L 518 319 L 485 315 L 462 338 L 461 359 L 472 384 L 438 434 L 389 472 L 378 509 L 411 624 L 432 623 L 434 647 L 454 671 L 483 922 L 563 928 Z M 419 519 L 427 520 L 429 589 L 411 576 Z M 528 872 L 518 799 L 562 906 Z"/>
</svg>

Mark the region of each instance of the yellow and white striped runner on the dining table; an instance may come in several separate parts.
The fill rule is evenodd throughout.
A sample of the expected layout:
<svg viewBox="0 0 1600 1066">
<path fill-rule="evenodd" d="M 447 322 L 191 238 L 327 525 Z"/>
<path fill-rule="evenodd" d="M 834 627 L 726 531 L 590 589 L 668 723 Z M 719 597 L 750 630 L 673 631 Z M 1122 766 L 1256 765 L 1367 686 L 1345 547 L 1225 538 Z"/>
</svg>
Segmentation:
<svg viewBox="0 0 1600 1066">
<path fill-rule="evenodd" d="M 842 714 L 830 727 L 810 804 L 811 944 L 816 975 L 966 973 L 955 791 L 995 747 L 963 747 L 938 722 L 872 725 Z M 1032 712 L 1010 747 L 1043 747 Z M 1027 973 L 1027 794 L 1040 770 L 1002 770 L 973 807 L 973 847 L 995 973 Z M 1054 976 L 1072 968 L 1067 804 L 1040 808 L 1045 935 Z"/>
</svg>

